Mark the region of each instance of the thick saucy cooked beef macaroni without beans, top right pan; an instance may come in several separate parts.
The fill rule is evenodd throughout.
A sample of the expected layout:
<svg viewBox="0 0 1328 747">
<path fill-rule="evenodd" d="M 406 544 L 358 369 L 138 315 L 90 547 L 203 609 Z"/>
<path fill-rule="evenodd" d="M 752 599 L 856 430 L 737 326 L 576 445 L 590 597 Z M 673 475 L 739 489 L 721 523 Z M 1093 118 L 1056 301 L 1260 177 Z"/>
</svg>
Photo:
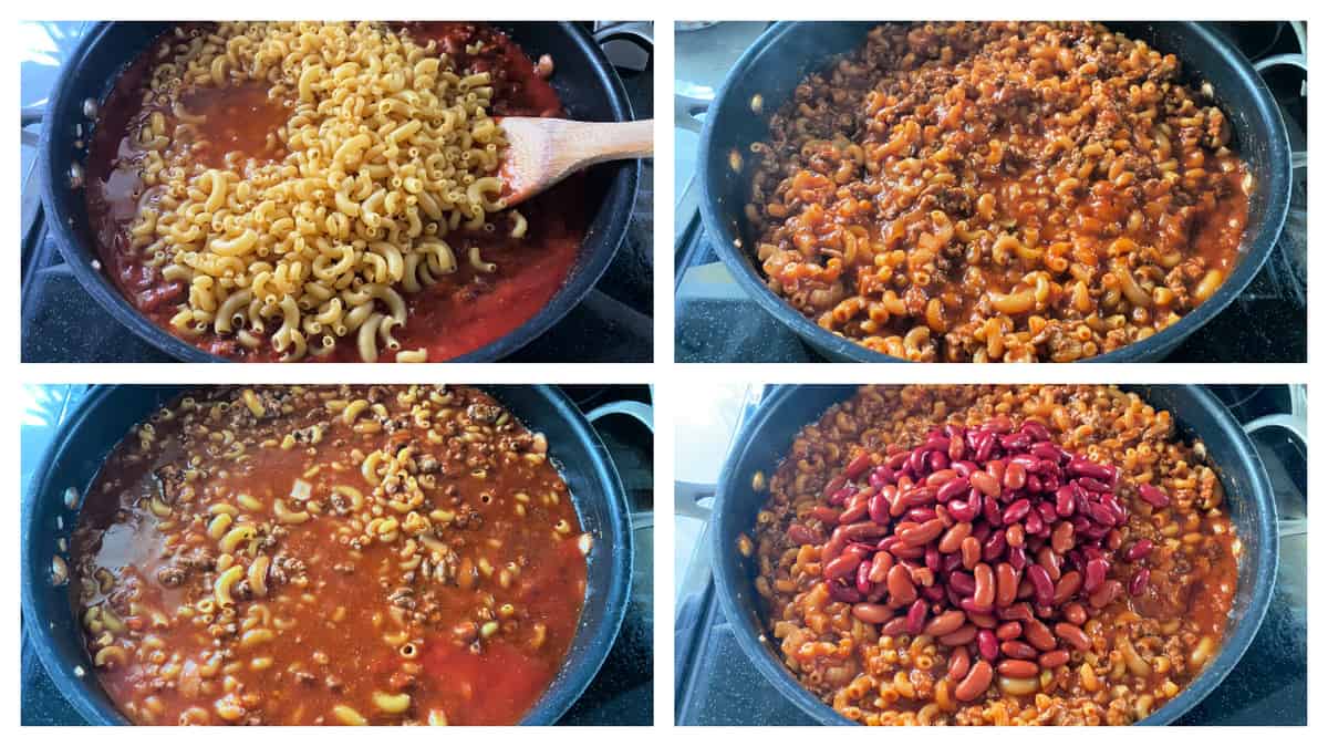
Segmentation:
<svg viewBox="0 0 1328 747">
<path fill-rule="evenodd" d="M 1100 24 L 882 25 L 752 146 L 757 263 L 821 327 L 911 360 L 1147 338 L 1239 262 L 1252 189 L 1182 80 Z"/>
</svg>

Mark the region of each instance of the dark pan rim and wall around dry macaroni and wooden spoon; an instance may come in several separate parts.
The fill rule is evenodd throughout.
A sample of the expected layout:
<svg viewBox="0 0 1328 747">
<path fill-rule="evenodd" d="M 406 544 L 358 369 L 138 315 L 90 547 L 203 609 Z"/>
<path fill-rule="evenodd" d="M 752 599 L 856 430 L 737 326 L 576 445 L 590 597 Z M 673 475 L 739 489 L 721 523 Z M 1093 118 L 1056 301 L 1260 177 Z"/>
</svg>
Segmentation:
<svg viewBox="0 0 1328 747">
<path fill-rule="evenodd" d="M 82 102 L 88 97 L 93 97 L 98 102 L 105 101 L 114 86 L 116 77 L 139 53 L 145 52 L 157 33 L 165 31 L 167 25 L 138 24 L 155 29 L 151 35 L 145 36 L 141 47 L 108 49 L 102 40 L 113 32 L 117 23 L 125 25 L 126 21 L 98 23 L 84 36 L 65 62 L 45 110 L 36 169 L 41 177 L 41 201 L 49 218 L 50 235 L 78 283 L 120 324 L 175 360 L 223 363 L 227 359 L 211 355 L 171 335 L 134 308 L 121 295 L 116 284 L 106 278 L 105 272 L 93 265 L 98 261 L 96 249 L 90 246 L 90 237 L 85 239 L 76 235 L 76 226 L 85 222 L 86 210 L 84 207 L 84 187 L 70 189 L 69 173 L 76 163 L 81 166 L 85 161 L 86 145 L 74 149 L 70 144 L 77 140 L 76 126 L 85 121 Z M 518 28 L 515 24 L 507 23 L 495 25 L 505 31 Z M 603 51 L 595 44 L 594 37 L 571 21 L 555 21 L 544 25 L 560 29 L 576 53 L 583 54 L 588 61 L 594 70 L 595 84 L 602 86 L 607 97 L 611 114 L 608 120 L 631 120 L 632 109 L 623 81 L 608 58 L 604 57 Z M 556 74 L 554 80 L 558 80 Z M 575 106 L 570 108 L 575 114 Z M 567 282 L 526 323 L 479 350 L 450 359 L 452 362 L 498 360 L 521 350 L 575 308 L 604 274 L 627 235 L 628 221 L 636 203 L 641 165 L 639 161 L 603 163 L 596 166 L 596 173 L 606 177 L 604 201 L 590 222 L 582 250 Z"/>
</svg>

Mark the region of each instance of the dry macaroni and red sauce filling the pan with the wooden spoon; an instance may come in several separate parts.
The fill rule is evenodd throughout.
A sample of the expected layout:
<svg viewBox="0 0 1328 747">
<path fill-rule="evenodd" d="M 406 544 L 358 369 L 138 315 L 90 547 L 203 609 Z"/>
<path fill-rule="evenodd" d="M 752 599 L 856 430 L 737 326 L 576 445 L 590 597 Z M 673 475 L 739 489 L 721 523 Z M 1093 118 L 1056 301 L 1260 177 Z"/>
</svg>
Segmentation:
<svg viewBox="0 0 1328 747">
<path fill-rule="evenodd" d="M 560 116 L 552 74 L 487 24 L 181 24 L 93 126 L 102 266 L 223 358 L 471 352 L 548 303 L 584 234 L 575 181 L 506 205 L 501 117 Z"/>
</svg>

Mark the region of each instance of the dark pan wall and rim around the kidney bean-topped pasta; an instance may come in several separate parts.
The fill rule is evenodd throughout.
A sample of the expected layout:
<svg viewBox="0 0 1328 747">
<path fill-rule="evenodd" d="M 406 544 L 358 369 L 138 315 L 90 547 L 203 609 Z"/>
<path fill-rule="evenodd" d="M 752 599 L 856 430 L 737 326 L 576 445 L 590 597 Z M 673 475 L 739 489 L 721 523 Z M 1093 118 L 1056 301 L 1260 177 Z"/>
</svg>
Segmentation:
<svg viewBox="0 0 1328 747">
<path fill-rule="evenodd" d="M 793 435 L 817 420 L 827 407 L 853 396 L 857 385 L 782 385 L 770 392 L 734 440 L 720 472 L 712 528 L 712 573 L 716 595 L 725 618 L 734 629 L 738 646 L 766 681 L 805 714 L 827 726 L 855 726 L 805 690 L 784 666 L 773 641 L 758 618 L 761 601 L 752 585 L 753 569 L 734 549 L 738 533 L 750 533 L 756 510 L 764 497 L 753 496 L 750 475 L 770 471 L 791 444 Z M 1256 536 L 1242 536 L 1246 556 L 1240 564 L 1240 590 L 1235 606 L 1244 613 L 1230 623 L 1219 653 L 1203 673 L 1174 699 L 1138 722 L 1141 726 L 1173 723 L 1207 696 L 1235 667 L 1254 639 L 1278 574 L 1278 517 L 1272 486 L 1263 461 L 1250 437 L 1211 392 L 1198 385 L 1126 387 L 1150 404 L 1171 409 L 1179 431 L 1187 437 L 1202 425 L 1202 439 L 1219 464 L 1227 489 L 1232 521 L 1244 521 Z M 1182 415 L 1183 413 L 1183 415 Z M 1202 420 L 1202 423 L 1201 423 Z M 1218 456 L 1226 459 L 1219 463 Z M 1232 501 L 1239 497 L 1239 501 Z M 1248 512 L 1236 516 L 1238 512 Z M 1239 520 L 1239 521 L 1238 521 Z"/>
</svg>

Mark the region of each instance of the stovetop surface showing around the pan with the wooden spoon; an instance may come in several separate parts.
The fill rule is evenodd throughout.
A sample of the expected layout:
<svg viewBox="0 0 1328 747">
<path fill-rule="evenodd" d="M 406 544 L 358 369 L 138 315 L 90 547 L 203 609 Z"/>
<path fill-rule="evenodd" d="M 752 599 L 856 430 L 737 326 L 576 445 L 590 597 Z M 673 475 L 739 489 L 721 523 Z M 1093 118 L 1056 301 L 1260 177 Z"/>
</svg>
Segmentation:
<svg viewBox="0 0 1328 747">
<path fill-rule="evenodd" d="M 40 106 L 60 65 L 90 23 L 20 24 L 24 106 Z M 622 40 L 614 44 L 624 44 Z M 611 56 L 611 58 L 614 58 Z M 653 54 L 645 69 L 620 66 L 636 118 L 653 116 Z M 159 363 L 171 358 L 106 315 L 82 288 L 46 233 L 33 174 L 36 129 L 23 144 L 23 360 L 29 363 Z M 653 161 L 641 162 L 627 237 L 595 288 L 538 339 L 506 360 L 639 363 L 653 356 Z"/>
</svg>

